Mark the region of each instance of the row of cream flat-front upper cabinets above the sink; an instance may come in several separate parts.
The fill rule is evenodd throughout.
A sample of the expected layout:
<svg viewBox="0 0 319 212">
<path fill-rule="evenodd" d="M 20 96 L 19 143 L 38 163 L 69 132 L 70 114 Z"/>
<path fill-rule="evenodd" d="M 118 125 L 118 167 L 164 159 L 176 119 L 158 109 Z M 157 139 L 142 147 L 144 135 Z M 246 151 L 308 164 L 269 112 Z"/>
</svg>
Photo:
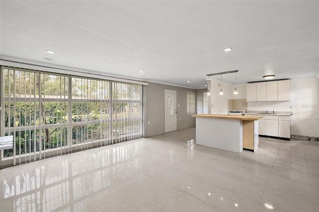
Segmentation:
<svg viewBox="0 0 319 212">
<path fill-rule="evenodd" d="M 247 84 L 247 102 L 290 101 L 290 80 Z"/>
</svg>

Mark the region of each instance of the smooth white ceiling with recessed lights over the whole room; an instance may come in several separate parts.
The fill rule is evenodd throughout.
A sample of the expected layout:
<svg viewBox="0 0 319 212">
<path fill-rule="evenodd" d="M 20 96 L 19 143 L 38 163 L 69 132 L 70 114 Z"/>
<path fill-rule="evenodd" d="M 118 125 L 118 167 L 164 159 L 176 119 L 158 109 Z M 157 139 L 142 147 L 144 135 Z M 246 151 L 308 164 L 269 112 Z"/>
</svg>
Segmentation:
<svg viewBox="0 0 319 212">
<path fill-rule="evenodd" d="M 319 1 L 1 0 L 0 56 L 190 88 L 319 77 Z"/>
</svg>

